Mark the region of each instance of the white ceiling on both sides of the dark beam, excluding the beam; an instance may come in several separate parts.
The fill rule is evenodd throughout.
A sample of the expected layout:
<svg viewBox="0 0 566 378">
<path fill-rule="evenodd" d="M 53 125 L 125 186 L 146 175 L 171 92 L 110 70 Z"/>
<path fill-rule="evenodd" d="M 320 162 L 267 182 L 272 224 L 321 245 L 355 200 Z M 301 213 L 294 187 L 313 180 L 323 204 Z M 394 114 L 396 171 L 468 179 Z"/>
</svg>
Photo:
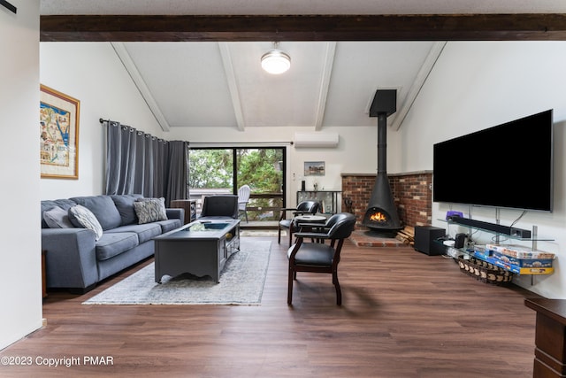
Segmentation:
<svg viewBox="0 0 566 378">
<path fill-rule="evenodd" d="M 566 12 L 564 0 L 41 0 L 42 15 L 445 14 Z M 397 90 L 404 114 L 444 42 L 279 42 L 287 73 L 260 58 L 270 42 L 113 42 L 164 130 L 172 127 L 355 127 L 376 89 Z"/>
</svg>

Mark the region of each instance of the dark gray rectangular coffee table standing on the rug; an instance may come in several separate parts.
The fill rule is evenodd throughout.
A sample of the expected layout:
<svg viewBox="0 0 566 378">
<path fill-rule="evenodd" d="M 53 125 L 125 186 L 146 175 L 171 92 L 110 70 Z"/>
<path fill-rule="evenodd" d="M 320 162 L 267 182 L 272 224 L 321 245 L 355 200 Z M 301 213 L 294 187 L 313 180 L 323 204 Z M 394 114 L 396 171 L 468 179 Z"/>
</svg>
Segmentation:
<svg viewBox="0 0 566 378">
<path fill-rule="evenodd" d="M 196 220 L 154 240 L 156 282 L 183 273 L 219 282 L 226 260 L 240 251 L 240 220 Z"/>
</svg>

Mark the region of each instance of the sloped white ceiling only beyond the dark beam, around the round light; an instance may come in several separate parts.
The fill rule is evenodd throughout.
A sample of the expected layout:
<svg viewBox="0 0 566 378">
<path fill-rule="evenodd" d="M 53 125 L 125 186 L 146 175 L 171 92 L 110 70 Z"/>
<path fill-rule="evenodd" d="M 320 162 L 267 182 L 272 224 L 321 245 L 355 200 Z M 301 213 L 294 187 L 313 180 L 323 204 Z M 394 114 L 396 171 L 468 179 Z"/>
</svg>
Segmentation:
<svg viewBox="0 0 566 378">
<path fill-rule="evenodd" d="M 155 99 L 168 127 L 315 130 L 375 124 L 367 111 L 379 88 L 398 89 L 401 107 L 436 44 L 280 42 L 279 48 L 292 60 L 291 69 L 280 75 L 265 73 L 260 66 L 261 56 L 272 48 L 270 42 L 114 46 L 123 47 L 120 54 L 132 59 L 134 66 L 128 69 L 139 72 L 149 89 L 144 96 Z"/>
</svg>

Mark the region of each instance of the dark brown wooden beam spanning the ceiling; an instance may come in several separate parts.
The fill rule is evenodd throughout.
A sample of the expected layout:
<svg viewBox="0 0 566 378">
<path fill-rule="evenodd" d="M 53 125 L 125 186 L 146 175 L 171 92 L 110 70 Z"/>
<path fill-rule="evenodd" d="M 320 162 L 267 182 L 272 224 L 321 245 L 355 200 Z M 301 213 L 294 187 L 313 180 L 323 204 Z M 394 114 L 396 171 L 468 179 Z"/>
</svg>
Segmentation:
<svg viewBox="0 0 566 378">
<path fill-rule="evenodd" d="M 46 15 L 42 42 L 563 41 L 566 14 Z"/>
</svg>

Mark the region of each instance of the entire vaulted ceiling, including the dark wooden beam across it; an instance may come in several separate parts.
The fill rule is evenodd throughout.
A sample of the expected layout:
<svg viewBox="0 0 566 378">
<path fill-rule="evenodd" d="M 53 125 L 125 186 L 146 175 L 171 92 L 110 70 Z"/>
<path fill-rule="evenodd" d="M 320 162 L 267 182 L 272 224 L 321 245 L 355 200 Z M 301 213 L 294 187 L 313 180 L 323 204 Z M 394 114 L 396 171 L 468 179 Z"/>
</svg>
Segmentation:
<svg viewBox="0 0 566 378">
<path fill-rule="evenodd" d="M 164 130 L 400 127 L 446 41 L 564 40 L 563 0 L 42 0 L 42 42 L 111 42 Z M 287 73 L 264 73 L 272 42 Z"/>
</svg>

